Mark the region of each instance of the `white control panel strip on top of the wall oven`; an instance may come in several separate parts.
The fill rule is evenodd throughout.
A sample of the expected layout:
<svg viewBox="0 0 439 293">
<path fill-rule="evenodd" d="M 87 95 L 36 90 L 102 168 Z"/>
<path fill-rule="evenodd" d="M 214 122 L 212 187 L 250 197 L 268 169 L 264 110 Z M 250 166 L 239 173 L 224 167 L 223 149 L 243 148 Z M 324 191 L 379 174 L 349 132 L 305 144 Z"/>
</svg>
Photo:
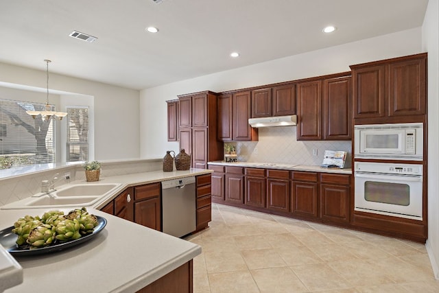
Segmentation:
<svg viewBox="0 0 439 293">
<path fill-rule="evenodd" d="M 355 162 L 355 172 L 423 175 L 423 165 L 418 164 L 394 164 L 394 163 L 369 163 Z"/>
</svg>

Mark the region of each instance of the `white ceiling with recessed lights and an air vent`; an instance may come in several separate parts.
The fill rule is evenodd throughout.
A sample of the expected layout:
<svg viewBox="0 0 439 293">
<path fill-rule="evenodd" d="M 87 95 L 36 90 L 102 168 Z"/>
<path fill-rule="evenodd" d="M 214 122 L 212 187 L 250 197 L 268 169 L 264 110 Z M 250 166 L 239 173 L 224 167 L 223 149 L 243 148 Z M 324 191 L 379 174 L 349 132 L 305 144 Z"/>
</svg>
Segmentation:
<svg viewBox="0 0 439 293">
<path fill-rule="evenodd" d="M 146 89 L 399 32 L 428 0 L 3 0 L 0 62 Z M 158 27 L 158 34 L 145 27 Z M 335 25 L 332 34 L 322 28 Z M 95 43 L 71 38 L 73 30 Z M 239 58 L 230 58 L 239 51 Z"/>
</svg>

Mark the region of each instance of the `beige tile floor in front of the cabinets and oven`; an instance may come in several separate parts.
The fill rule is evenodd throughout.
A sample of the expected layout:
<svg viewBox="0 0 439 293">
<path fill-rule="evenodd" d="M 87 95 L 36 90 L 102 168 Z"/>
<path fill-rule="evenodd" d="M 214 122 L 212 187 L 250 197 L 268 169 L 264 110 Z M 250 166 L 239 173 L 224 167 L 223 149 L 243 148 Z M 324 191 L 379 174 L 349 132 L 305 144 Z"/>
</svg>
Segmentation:
<svg viewBox="0 0 439 293">
<path fill-rule="evenodd" d="M 423 244 L 222 204 L 209 226 L 194 293 L 439 292 Z"/>
</svg>

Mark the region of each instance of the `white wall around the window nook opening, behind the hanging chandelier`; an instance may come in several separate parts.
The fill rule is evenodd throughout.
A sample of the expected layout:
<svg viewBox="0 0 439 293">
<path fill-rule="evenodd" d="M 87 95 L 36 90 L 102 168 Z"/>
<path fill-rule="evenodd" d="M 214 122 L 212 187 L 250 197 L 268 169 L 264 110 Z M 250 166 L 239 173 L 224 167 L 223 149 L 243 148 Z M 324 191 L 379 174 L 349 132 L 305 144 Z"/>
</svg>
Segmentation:
<svg viewBox="0 0 439 293">
<path fill-rule="evenodd" d="M 49 76 L 51 90 L 94 97 L 95 159 L 139 158 L 139 91 L 55 73 Z M 45 89 L 45 82 L 45 71 L 0 63 L 1 86 Z"/>
</svg>

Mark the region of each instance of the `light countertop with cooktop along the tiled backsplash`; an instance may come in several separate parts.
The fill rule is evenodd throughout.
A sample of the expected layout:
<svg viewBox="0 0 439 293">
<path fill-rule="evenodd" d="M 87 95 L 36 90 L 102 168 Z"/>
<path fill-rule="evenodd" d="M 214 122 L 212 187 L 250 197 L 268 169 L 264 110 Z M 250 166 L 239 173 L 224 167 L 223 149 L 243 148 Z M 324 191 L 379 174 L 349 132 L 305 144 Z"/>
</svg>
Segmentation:
<svg viewBox="0 0 439 293">
<path fill-rule="evenodd" d="M 213 161 L 213 162 L 209 162 L 208 164 L 239 166 L 239 167 L 255 167 L 255 168 L 264 168 L 264 169 L 286 169 L 291 171 L 352 174 L 351 168 L 343 168 L 343 169 L 340 169 L 338 167 L 325 168 L 325 167 L 320 167 L 319 165 L 294 165 L 294 164 L 283 164 L 283 163 L 253 163 L 253 162 L 225 162 L 225 161 Z"/>
</svg>

